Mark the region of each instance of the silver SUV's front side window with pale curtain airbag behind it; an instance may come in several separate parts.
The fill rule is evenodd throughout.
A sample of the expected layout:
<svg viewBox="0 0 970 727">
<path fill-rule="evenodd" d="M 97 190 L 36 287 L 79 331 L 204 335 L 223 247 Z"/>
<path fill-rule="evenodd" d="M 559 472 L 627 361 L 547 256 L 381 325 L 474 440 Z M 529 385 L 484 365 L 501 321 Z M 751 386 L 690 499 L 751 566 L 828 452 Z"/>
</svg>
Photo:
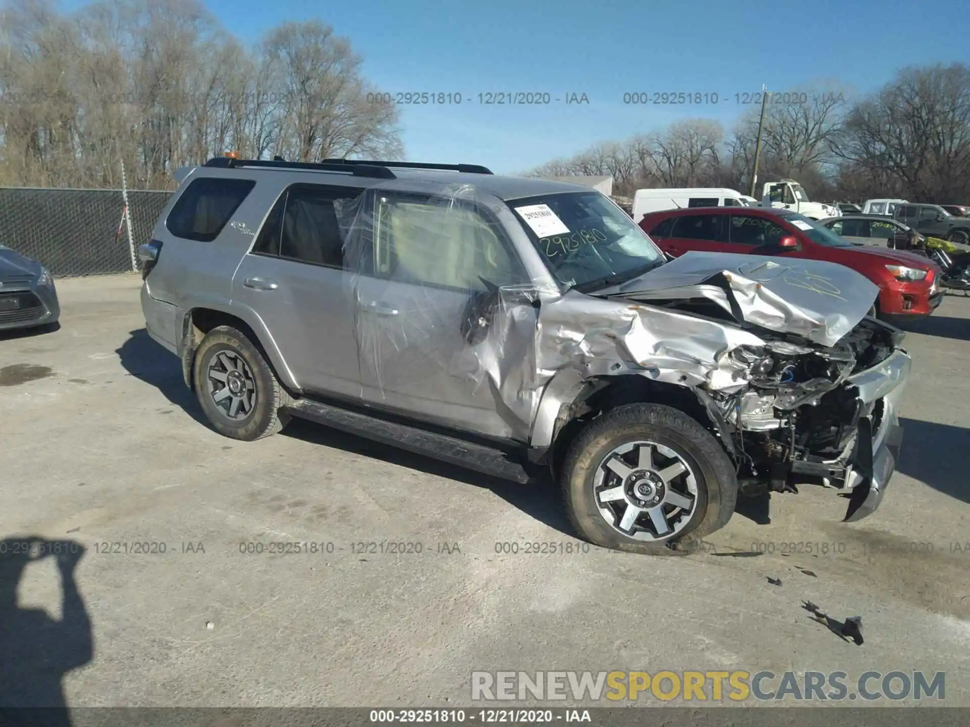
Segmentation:
<svg viewBox="0 0 970 727">
<path fill-rule="evenodd" d="M 377 200 L 372 269 L 387 280 L 475 292 L 487 290 L 482 279 L 525 282 L 498 222 L 475 205 L 420 195 Z"/>
</svg>

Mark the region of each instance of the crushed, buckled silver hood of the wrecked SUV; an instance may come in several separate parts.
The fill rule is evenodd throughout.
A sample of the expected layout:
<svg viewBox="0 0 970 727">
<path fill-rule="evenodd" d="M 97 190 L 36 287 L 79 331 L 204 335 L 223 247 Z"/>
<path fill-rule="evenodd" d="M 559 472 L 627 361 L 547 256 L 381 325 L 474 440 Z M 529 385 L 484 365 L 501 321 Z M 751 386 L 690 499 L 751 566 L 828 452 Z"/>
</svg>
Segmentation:
<svg viewBox="0 0 970 727">
<path fill-rule="evenodd" d="M 832 346 L 869 312 L 879 287 L 836 263 L 688 252 L 597 295 L 643 302 L 711 300 L 740 324 Z"/>
</svg>

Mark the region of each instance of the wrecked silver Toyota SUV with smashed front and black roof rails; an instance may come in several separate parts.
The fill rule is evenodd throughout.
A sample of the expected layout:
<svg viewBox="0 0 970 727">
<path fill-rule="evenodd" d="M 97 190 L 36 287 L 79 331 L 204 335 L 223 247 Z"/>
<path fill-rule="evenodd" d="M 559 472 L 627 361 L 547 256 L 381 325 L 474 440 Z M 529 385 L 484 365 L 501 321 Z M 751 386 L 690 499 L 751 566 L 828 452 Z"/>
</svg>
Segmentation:
<svg viewBox="0 0 970 727">
<path fill-rule="evenodd" d="M 838 265 L 673 261 L 598 192 L 473 165 L 219 157 L 140 249 L 211 426 L 304 417 L 526 483 L 592 543 L 690 550 L 738 491 L 883 498 L 910 369 Z M 784 243 L 784 240 L 782 241 Z"/>
</svg>

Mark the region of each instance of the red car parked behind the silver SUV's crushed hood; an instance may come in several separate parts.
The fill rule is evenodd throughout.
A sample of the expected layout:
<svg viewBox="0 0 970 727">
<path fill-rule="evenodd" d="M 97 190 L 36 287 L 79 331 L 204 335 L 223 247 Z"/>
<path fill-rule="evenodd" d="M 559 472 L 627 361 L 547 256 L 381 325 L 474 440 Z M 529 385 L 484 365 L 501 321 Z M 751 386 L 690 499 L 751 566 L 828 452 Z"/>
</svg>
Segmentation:
<svg viewBox="0 0 970 727">
<path fill-rule="evenodd" d="M 652 212 L 640 228 L 672 257 L 732 252 L 824 260 L 852 268 L 879 286 L 876 315 L 889 323 L 928 316 L 943 300 L 940 268 L 902 250 L 854 244 L 787 209 L 688 207 Z"/>
</svg>

